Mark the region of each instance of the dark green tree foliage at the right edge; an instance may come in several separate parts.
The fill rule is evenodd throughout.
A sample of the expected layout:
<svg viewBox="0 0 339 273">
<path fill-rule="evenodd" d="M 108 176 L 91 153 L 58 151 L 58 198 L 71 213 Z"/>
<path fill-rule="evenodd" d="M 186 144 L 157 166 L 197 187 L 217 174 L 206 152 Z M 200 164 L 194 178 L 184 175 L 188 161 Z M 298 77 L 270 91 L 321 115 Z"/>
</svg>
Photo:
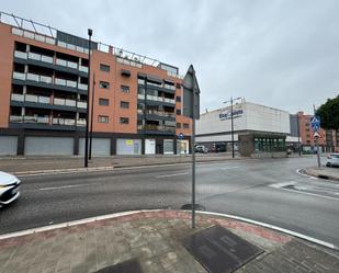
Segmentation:
<svg viewBox="0 0 339 273">
<path fill-rule="evenodd" d="M 334 99 L 327 99 L 320 107 L 317 109 L 316 114 L 321 121 L 321 128 L 339 129 L 339 95 Z"/>
</svg>

